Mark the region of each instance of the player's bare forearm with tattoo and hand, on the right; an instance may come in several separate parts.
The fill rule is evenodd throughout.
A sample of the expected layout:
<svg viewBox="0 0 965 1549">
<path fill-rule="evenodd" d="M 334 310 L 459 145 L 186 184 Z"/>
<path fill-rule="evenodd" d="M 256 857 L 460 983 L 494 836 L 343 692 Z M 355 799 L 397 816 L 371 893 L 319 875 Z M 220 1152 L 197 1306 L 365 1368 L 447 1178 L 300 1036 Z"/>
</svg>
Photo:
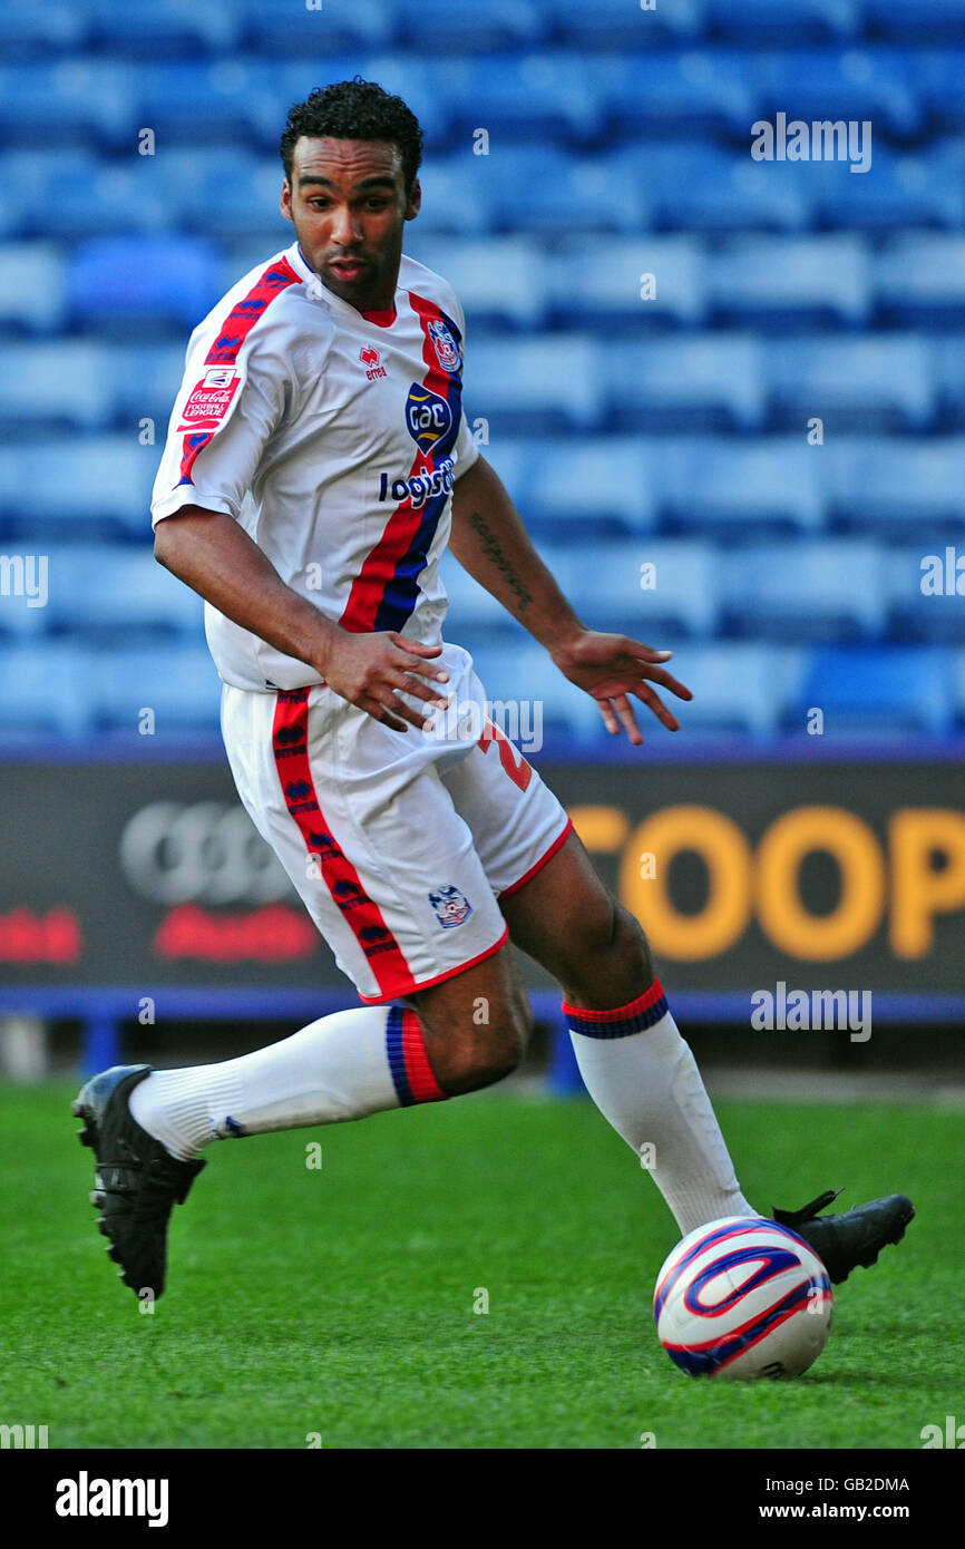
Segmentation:
<svg viewBox="0 0 965 1549">
<path fill-rule="evenodd" d="M 449 548 L 460 565 L 519 620 L 553 661 L 599 705 L 607 731 L 626 731 L 643 742 L 627 696 L 635 696 L 669 730 L 680 722 L 666 708 L 651 682 L 678 699 L 692 699 L 689 688 L 663 669 L 671 651 L 655 651 L 629 635 L 606 635 L 573 612 L 553 575 L 536 553 L 522 517 L 499 474 L 483 457 L 455 480 L 452 488 L 452 534 Z"/>
</svg>

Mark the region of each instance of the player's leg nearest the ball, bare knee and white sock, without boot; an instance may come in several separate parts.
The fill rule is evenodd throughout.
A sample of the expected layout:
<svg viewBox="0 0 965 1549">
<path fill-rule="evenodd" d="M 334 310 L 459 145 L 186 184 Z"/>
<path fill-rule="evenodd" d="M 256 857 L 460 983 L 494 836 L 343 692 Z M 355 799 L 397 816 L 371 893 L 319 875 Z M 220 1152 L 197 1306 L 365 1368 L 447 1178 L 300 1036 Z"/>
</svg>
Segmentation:
<svg viewBox="0 0 965 1549">
<path fill-rule="evenodd" d="M 759 1214 L 740 1193 L 646 936 L 579 838 L 570 833 L 500 908 L 513 942 L 562 985 L 587 1090 L 652 1174 L 682 1235 L 720 1216 Z"/>
</svg>

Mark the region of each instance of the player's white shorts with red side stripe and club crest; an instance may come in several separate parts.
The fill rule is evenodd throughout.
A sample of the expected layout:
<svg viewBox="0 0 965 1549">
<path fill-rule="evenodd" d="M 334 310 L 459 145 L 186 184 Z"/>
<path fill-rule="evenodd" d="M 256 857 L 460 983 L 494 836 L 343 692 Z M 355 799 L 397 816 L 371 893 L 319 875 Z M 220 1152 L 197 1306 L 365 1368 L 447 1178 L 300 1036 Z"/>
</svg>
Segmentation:
<svg viewBox="0 0 965 1549">
<path fill-rule="evenodd" d="M 429 733 L 392 731 L 321 683 L 222 691 L 242 802 L 372 1004 L 497 951 L 507 939 L 497 897 L 528 881 L 572 829 L 486 717 L 468 651 L 446 644 L 440 665 L 449 709 Z"/>
</svg>

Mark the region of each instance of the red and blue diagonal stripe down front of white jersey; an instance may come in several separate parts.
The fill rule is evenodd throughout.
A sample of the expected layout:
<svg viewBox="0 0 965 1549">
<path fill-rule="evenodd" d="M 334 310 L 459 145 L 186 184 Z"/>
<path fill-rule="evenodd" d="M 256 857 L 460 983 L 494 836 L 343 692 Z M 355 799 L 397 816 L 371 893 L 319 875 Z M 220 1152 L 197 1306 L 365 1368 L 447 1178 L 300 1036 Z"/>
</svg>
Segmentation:
<svg viewBox="0 0 965 1549">
<path fill-rule="evenodd" d="M 462 366 L 446 370 L 438 359 L 429 333 L 431 322 L 441 322 L 462 347 L 462 331 L 435 302 L 409 291 L 409 301 L 423 330 L 423 361 L 426 376 L 423 387 L 443 398 L 449 406 L 449 426 L 428 449 L 417 451 L 409 477 L 434 472 L 452 451 L 462 420 Z M 460 352 L 462 353 L 462 352 Z M 367 634 L 376 629 L 401 629 L 418 601 L 418 576 L 426 567 L 435 528 L 446 508 L 448 491 L 429 496 L 421 507 L 401 500 L 383 536 L 370 550 L 352 582 L 349 601 L 339 620 L 342 629 L 352 634 Z"/>
</svg>

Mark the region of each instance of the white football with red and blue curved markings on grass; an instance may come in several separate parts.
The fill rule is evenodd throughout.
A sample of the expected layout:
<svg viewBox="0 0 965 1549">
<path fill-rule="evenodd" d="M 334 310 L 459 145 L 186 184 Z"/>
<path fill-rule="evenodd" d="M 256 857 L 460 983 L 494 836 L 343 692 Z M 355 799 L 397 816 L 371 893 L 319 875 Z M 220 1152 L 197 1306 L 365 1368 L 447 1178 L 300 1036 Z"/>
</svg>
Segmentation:
<svg viewBox="0 0 965 1549">
<path fill-rule="evenodd" d="M 691 1377 L 799 1377 L 830 1334 L 830 1279 L 787 1227 L 728 1216 L 691 1231 L 654 1290 L 657 1335 Z"/>
</svg>

